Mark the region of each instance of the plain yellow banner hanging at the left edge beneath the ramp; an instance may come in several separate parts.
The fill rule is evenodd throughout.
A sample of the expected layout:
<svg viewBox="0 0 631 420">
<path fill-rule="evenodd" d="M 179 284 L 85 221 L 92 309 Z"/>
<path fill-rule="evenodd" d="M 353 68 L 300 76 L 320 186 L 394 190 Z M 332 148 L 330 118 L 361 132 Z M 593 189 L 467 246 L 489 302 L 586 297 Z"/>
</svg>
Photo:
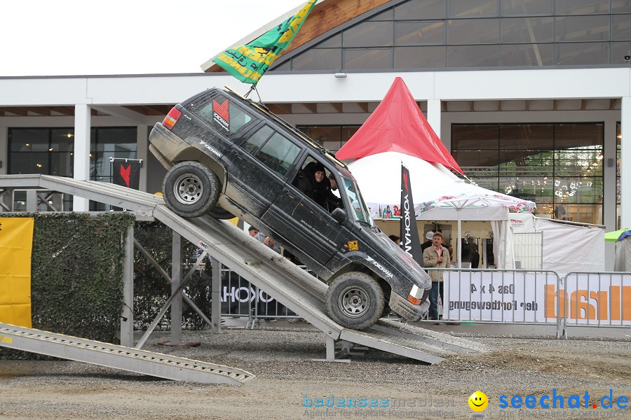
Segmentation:
<svg viewBox="0 0 631 420">
<path fill-rule="evenodd" d="M 33 218 L 0 217 L 0 322 L 31 328 Z"/>
</svg>

